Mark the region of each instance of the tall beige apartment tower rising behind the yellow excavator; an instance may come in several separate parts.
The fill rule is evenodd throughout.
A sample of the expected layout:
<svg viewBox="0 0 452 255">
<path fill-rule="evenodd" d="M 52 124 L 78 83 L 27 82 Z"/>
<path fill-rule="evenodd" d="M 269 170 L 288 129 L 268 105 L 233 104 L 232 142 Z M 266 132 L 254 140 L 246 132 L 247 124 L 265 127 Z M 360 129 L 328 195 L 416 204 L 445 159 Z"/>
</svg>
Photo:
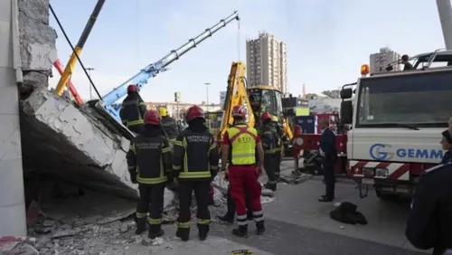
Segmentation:
<svg viewBox="0 0 452 255">
<path fill-rule="evenodd" d="M 259 33 L 258 39 L 248 40 L 247 80 L 250 87 L 268 85 L 286 93 L 286 43 L 269 33 Z"/>
</svg>

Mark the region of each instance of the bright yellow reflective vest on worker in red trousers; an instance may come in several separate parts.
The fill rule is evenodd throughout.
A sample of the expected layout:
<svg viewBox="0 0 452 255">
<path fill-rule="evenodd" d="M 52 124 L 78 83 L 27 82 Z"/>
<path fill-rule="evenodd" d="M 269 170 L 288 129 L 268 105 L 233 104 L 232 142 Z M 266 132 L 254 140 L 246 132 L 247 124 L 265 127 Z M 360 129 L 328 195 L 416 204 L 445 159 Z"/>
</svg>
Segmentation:
<svg viewBox="0 0 452 255">
<path fill-rule="evenodd" d="M 256 144 L 258 143 L 258 130 L 239 124 L 228 128 L 228 137 L 231 146 L 231 165 L 256 164 Z"/>
</svg>

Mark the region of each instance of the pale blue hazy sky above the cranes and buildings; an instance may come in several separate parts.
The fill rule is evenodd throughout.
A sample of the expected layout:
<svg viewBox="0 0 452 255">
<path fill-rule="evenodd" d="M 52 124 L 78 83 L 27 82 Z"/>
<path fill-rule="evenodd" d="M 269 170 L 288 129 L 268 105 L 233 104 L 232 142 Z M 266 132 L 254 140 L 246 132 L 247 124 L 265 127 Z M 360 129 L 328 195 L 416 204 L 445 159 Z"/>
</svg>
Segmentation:
<svg viewBox="0 0 452 255">
<path fill-rule="evenodd" d="M 72 43 L 97 1 L 51 0 Z M 170 65 L 171 70 L 149 80 L 142 90 L 146 101 L 219 101 L 225 90 L 231 61 L 246 61 L 246 39 L 259 31 L 273 33 L 287 43 L 289 90 L 307 92 L 336 89 L 353 82 L 369 54 L 389 46 L 402 54 L 444 48 L 435 1 L 412 0 L 108 0 L 81 54 L 92 67 L 92 79 L 101 94 L 117 87 L 147 64 L 202 33 L 234 10 L 240 13 L 240 31 L 232 22 Z M 71 48 L 59 34 L 58 55 L 65 65 Z M 240 43 L 239 43 L 240 42 Z M 240 56 L 239 56 L 240 54 Z M 54 71 L 51 86 L 60 79 Z M 82 98 L 89 99 L 89 81 L 80 66 L 72 76 Z"/>
</svg>

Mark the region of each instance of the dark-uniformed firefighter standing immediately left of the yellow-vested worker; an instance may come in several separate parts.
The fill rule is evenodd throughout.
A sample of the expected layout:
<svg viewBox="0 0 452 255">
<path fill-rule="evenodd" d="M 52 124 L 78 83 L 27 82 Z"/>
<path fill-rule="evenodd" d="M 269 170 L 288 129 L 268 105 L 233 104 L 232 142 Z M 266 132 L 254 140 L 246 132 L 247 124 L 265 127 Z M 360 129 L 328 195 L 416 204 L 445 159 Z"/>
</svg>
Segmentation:
<svg viewBox="0 0 452 255">
<path fill-rule="evenodd" d="M 194 191 L 198 207 L 198 235 L 204 241 L 210 230 L 209 190 L 218 172 L 219 155 L 215 138 L 204 125 L 203 110 L 199 106 L 187 109 L 186 120 L 188 128 L 174 142 L 173 169 L 178 173 L 180 204 L 176 236 L 183 241 L 188 241 L 190 237 L 190 205 Z"/>
</svg>

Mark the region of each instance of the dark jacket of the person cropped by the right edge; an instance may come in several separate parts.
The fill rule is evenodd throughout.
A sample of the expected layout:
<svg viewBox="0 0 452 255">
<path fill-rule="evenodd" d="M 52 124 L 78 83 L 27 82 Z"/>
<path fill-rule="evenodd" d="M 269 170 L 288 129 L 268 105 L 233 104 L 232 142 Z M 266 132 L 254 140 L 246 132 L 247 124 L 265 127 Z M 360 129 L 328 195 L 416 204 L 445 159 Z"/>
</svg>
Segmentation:
<svg viewBox="0 0 452 255">
<path fill-rule="evenodd" d="M 452 164 L 434 166 L 416 184 L 405 235 L 421 250 L 452 254 Z M 449 253 L 447 253 L 449 252 Z"/>
</svg>

